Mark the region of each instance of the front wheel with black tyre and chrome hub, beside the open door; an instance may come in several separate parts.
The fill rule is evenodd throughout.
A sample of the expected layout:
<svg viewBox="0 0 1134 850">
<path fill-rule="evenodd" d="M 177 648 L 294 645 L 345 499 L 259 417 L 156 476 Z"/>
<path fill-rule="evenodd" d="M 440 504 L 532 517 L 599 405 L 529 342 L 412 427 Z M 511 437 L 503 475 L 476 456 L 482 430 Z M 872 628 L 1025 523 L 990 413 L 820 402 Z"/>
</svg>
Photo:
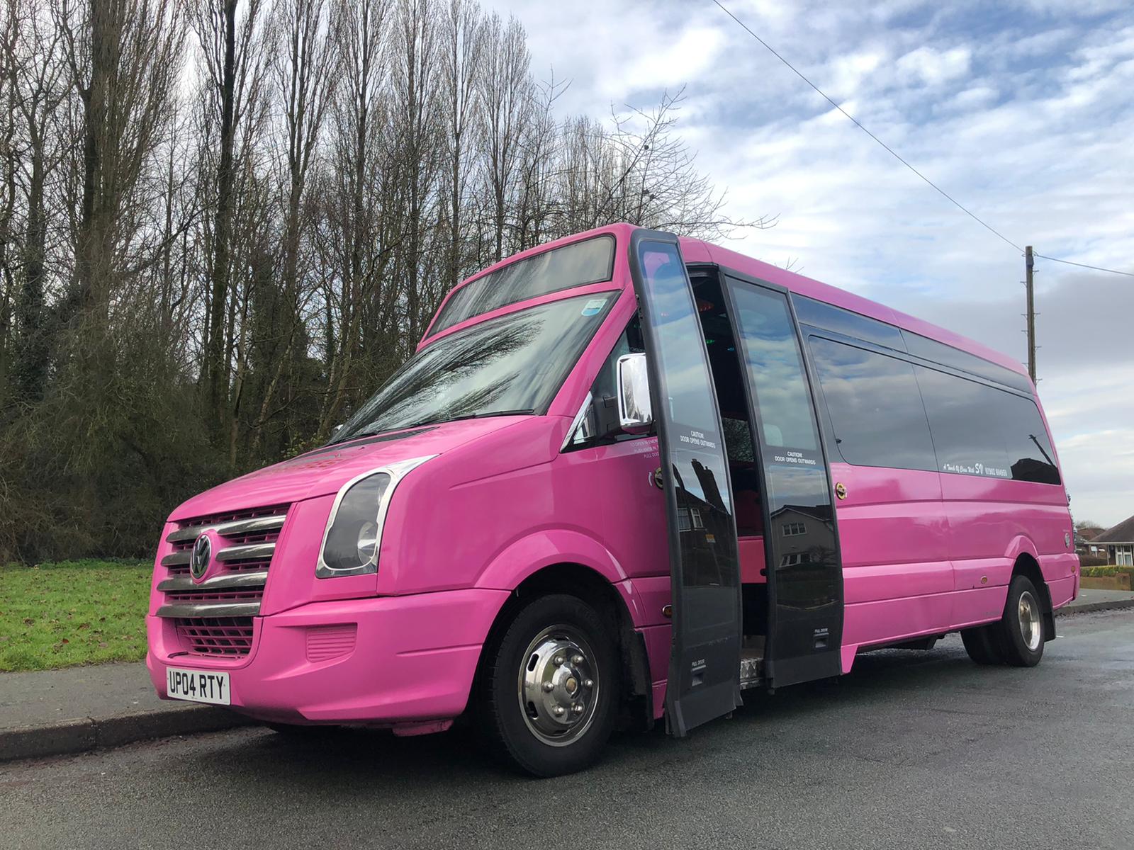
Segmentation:
<svg viewBox="0 0 1134 850">
<path fill-rule="evenodd" d="M 477 691 L 493 755 L 534 776 L 575 773 L 594 763 L 615 728 L 617 638 L 575 596 L 533 598 L 485 645 Z"/>
</svg>

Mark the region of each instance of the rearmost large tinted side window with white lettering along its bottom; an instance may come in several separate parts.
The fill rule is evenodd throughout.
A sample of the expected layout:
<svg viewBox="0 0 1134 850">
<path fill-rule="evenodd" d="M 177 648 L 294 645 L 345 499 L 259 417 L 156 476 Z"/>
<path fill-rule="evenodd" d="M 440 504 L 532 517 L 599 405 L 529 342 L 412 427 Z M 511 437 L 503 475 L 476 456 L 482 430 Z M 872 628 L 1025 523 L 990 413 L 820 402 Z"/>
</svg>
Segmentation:
<svg viewBox="0 0 1134 850">
<path fill-rule="evenodd" d="M 942 473 L 1059 483 L 1034 401 L 924 366 L 915 372 Z"/>
</svg>

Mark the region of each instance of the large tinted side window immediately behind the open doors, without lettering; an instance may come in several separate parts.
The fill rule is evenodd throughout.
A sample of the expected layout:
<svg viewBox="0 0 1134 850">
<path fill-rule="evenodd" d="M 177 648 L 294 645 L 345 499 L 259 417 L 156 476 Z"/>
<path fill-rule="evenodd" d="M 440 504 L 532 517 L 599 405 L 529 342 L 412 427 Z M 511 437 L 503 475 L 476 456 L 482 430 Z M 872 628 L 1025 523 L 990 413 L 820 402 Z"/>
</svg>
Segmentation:
<svg viewBox="0 0 1134 850">
<path fill-rule="evenodd" d="M 810 341 L 843 459 L 857 466 L 936 469 L 913 366 L 820 337 Z"/>
</svg>

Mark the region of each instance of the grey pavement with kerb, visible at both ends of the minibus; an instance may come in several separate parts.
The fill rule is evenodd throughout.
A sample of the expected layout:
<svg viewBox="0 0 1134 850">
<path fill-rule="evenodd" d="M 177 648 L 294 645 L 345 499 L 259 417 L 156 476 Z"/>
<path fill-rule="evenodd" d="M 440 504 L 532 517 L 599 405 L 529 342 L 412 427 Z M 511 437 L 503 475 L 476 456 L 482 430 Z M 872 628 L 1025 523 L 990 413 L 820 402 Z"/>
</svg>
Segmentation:
<svg viewBox="0 0 1134 850">
<path fill-rule="evenodd" d="M 1060 615 L 1134 607 L 1134 593 L 1081 590 Z M 0 673 L 0 762 L 247 725 L 215 706 L 159 699 L 145 664 Z"/>
</svg>

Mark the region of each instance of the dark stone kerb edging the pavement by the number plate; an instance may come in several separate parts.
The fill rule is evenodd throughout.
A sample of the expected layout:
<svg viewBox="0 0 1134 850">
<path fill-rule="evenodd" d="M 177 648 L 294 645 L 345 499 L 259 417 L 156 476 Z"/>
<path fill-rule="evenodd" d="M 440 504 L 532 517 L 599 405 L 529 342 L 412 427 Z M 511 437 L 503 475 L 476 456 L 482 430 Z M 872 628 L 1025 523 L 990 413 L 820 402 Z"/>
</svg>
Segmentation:
<svg viewBox="0 0 1134 850">
<path fill-rule="evenodd" d="M 99 720 L 76 717 L 42 726 L 17 726 L 0 731 L 0 762 L 73 755 L 151 738 L 219 732 L 254 723 L 248 717 L 210 705 Z"/>
</svg>

